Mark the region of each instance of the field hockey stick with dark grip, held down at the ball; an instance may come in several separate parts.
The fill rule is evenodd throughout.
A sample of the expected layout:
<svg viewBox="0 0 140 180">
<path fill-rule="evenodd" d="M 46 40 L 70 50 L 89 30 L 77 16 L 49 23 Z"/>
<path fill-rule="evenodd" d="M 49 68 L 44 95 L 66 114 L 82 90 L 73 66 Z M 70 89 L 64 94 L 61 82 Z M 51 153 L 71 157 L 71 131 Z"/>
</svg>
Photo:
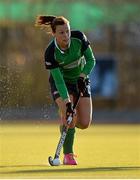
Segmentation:
<svg viewBox="0 0 140 180">
<path fill-rule="evenodd" d="M 75 110 L 75 108 L 77 107 L 79 99 L 80 99 L 80 92 L 79 92 L 79 94 L 77 96 L 77 99 L 76 99 L 74 105 L 73 105 L 73 110 Z M 63 126 L 62 134 L 61 134 L 61 137 L 59 139 L 59 142 L 58 142 L 58 145 L 57 145 L 57 148 L 56 148 L 56 152 L 55 152 L 54 158 L 52 158 L 52 156 L 49 156 L 49 158 L 48 158 L 49 164 L 51 166 L 58 166 L 58 165 L 60 165 L 60 160 L 59 160 L 60 152 L 61 152 L 61 149 L 62 149 L 63 144 L 65 142 L 67 131 L 69 129 L 69 125 L 70 125 L 70 123 L 73 120 L 73 115 L 74 115 L 74 113 L 72 113 L 72 114 L 70 114 L 68 116 L 67 124 Z"/>
</svg>

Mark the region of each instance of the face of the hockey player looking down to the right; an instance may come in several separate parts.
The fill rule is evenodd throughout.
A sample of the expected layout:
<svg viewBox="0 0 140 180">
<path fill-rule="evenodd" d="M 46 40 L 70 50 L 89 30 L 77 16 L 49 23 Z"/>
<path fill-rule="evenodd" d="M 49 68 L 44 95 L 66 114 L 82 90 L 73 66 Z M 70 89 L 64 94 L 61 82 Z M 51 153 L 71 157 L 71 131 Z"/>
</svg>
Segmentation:
<svg viewBox="0 0 140 180">
<path fill-rule="evenodd" d="M 56 38 L 57 44 L 60 48 L 67 48 L 70 42 L 70 26 L 69 24 L 56 26 L 56 31 L 54 36 Z"/>
</svg>

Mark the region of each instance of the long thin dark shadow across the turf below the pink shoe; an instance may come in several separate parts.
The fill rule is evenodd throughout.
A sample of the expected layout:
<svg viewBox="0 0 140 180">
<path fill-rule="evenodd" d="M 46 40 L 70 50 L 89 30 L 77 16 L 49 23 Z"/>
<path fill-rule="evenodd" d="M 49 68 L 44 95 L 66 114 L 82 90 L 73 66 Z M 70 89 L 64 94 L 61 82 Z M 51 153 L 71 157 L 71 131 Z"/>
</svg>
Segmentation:
<svg viewBox="0 0 140 180">
<path fill-rule="evenodd" d="M 24 170 L 13 170 L 13 171 L 5 171 L 5 172 L 0 172 L 0 174 L 13 174 L 13 173 L 52 173 L 52 172 L 96 172 L 96 171 L 127 171 L 127 170 L 140 170 L 140 166 L 120 166 L 120 167 L 93 167 L 93 168 L 78 168 L 78 166 L 72 166 L 72 169 L 68 168 L 62 168 L 58 169 L 59 167 L 53 167 L 51 168 L 50 166 L 45 166 L 45 165 L 18 165 L 18 166 L 0 166 L 0 168 L 37 168 L 38 169 L 24 169 Z M 40 169 L 40 168 L 43 169 Z M 61 166 L 62 167 L 62 166 Z M 73 169 L 75 167 L 75 169 Z M 44 169 L 46 168 L 46 169 Z M 47 169 L 51 168 L 51 169 Z"/>
</svg>

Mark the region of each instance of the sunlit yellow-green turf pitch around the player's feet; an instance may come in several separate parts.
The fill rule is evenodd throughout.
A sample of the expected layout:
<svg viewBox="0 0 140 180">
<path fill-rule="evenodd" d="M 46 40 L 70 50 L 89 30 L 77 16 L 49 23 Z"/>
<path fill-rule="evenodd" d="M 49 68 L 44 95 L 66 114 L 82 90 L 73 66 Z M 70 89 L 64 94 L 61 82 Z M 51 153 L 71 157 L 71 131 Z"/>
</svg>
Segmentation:
<svg viewBox="0 0 140 180">
<path fill-rule="evenodd" d="M 0 178 L 140 178 L 140 125 L 97 124 L 77 129 L 79 164 L 59 167 L 47 161 L 58 143 L 58 125 L 0 125 Z"/>
</svg>

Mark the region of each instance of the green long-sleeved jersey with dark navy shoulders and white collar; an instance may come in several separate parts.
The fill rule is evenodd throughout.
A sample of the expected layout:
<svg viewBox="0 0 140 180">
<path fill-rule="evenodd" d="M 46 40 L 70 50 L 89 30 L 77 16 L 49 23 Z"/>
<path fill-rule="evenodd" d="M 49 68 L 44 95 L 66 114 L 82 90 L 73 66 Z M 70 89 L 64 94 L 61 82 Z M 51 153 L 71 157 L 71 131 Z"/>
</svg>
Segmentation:
<svg viewBox="0 0 140 180">
<path fill-rule="evenodd" d="M 50 70 L 56 87 L 63 99 L 68 98 L 65 82 L 76 83 L 79 75 L 89 75 L 95 58 L 86 36 L 80 31 L 71 31 L 69 48 L 61 50 L 52 40 L 45 51 L 45 65 Z"/>
</svg>

